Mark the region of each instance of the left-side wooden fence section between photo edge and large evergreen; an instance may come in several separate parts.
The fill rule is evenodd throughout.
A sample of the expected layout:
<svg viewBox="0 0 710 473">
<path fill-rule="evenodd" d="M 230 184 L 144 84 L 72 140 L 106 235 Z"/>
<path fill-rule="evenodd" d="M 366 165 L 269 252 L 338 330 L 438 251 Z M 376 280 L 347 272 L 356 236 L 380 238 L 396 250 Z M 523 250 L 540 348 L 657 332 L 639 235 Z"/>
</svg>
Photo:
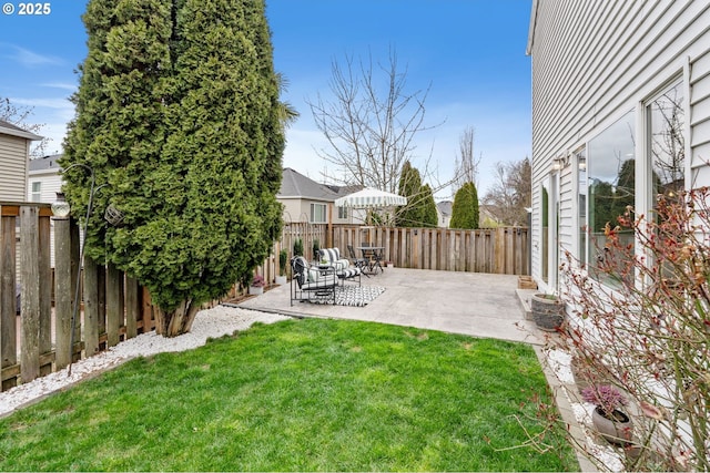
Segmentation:
<svg viewBox="0 0 710 473">
<path fill-rule="evenodd" d="M 79 298 L 83 310 L 77 311 L 72 335 L 79 228 L 74 220 L 51 215 L 47 204 L 0 203 L 1 390 L 154 327 L 146 291 L 114 267 L 85 258 Z"/>
</svg>

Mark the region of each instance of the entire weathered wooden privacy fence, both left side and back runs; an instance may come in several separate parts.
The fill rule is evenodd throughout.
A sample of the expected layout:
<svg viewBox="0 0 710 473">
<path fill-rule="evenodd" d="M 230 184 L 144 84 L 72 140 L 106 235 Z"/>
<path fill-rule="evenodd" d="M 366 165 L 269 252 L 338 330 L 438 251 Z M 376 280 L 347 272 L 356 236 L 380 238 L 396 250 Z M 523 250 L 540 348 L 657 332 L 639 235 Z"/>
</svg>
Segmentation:
<svg viewBox="0 0 710 473">
<path fill-rule="evenodd" d="M 80 269 L 75 222 L 51 215 L 48 204 L 0 203 L 0 390 L 61 370 L 70 360 L 91 357 L 155 326 L 148 291 L 112 265 L 84 258 Z M 454 230 L 307 223 L 284 224 L 281 240 L 255 273 L 273 281 L 280 274 L 280 250 L 285 248 L 291 258 L 298 238 L 307 258 L 316 239 L 346 257 L 347 245 L 369 243 L 383 247 L 385 260 L 398 267 L 529 275 L 524 227 Z M 72 328 L 77 284 L 80 307 Z M 244 290 L 235 285 L 232 292 Z"/>
</svg>

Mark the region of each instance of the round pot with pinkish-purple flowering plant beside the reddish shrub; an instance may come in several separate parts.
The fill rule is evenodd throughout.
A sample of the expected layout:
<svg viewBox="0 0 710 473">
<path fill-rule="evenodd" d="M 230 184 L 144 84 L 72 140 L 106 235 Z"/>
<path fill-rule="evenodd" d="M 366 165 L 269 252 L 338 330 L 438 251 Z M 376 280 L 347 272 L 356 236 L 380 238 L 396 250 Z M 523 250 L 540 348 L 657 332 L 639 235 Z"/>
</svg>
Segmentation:
<svg viewBox="0 0 710 473">
<path fill-rule="evenodd" d="M 601 436 L 617 445 L 631 442 L 631 418 L 621 411 L 629 402 L 617 388 L 610 384 L 590 385 L 582 390 L 581 397 L 596 405 L 591 422 Z"/>
</svg>

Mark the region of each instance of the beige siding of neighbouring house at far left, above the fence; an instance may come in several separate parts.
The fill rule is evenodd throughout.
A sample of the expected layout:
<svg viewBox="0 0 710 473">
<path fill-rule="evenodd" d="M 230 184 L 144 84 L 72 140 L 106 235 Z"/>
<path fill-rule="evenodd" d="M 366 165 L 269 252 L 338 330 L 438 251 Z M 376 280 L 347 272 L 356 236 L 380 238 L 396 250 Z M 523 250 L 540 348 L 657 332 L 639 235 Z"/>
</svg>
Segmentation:
<svg viewBox="0 0 710 473">
<path fill-rule="evenodd" d="M 0 133 L 0 200 L 24 200 L 28 146 L 26 138 Z"/>
</svg>

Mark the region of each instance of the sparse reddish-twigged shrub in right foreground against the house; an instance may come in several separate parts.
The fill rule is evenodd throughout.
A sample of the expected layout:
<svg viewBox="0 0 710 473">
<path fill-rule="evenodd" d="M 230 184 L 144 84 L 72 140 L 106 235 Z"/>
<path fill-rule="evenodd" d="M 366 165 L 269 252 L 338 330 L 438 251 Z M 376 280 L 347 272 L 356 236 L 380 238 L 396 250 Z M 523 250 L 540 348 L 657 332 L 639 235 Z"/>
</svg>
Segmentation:
<svg viewBox="0 0 710 473">
<path fill-rule="evenodd" d="M 628 470 L 710 471 L 709 204 L 703 187 L 659 197 L 652 215 L 627 208 L 598 237 L 601 258 L 561 265 L 572 313 L 555 343 L 628 393 Z"/>
</svg>

